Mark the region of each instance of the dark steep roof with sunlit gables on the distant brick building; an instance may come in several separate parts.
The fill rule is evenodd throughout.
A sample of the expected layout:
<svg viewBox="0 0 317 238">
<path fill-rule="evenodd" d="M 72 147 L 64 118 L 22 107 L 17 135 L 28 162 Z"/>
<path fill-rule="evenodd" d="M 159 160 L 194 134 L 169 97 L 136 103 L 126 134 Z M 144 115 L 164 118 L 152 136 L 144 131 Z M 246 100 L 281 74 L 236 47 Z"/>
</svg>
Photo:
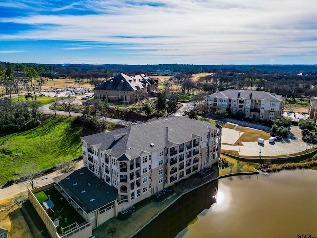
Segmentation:
<svg viewBox="0 0 317 238">
<path fill-rule="evenodd" d="M 98 85 L 94 90 L 118 90 L 118 91 L 136 91 L 144 88 L 145 85 L 139 80 L 133 79 L 123 73 Z"/>
</svg>

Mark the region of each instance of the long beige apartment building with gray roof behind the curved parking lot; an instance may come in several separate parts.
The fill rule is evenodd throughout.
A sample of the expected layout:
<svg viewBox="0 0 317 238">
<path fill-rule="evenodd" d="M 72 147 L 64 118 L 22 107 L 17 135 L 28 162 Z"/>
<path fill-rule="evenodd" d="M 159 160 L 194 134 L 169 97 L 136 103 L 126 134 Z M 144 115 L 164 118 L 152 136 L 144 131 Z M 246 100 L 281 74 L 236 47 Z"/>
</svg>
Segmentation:
<svg viewBox="0 0 317 238">
<path fill-rule="evenodd" d="M 205 96 L 208 114 L 217 110 L 229 110 L 231 114 L 243 114 L 253 120 L 275 120 L 282 116 L 284 98 L 264 91 L 228 89 Z"/>
</svg>

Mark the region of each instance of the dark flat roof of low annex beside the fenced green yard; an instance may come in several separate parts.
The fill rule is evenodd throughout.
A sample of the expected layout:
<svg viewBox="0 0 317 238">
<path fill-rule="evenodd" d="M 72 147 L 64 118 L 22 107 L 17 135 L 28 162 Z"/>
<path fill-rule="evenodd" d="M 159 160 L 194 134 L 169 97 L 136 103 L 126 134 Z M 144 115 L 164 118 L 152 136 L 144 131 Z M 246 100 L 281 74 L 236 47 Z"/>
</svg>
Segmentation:
<svg viewBox="0 0 317 238">
<path fill-rule="evenodd" d="M 117 189 L 94 176 L 87 167 L 57 176 L 53 180 L 87 214 L 117 199 Z"/>
</svg>

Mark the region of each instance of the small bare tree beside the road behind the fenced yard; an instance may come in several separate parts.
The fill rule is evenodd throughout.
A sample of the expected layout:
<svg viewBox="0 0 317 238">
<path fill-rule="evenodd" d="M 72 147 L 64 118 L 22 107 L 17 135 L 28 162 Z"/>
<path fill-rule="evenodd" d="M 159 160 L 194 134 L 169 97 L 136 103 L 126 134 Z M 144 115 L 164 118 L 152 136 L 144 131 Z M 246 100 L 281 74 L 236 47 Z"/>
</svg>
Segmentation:
<svg viewBox="0 0 317 238">
<path fill-rule="evenodd" d="M 42 173 L 37 170 L 34 162 L 23 166 L 20 174 L 24 185 L 32 189 L 40 182 L 40 176 L 42 175 Z"/>
</svg>

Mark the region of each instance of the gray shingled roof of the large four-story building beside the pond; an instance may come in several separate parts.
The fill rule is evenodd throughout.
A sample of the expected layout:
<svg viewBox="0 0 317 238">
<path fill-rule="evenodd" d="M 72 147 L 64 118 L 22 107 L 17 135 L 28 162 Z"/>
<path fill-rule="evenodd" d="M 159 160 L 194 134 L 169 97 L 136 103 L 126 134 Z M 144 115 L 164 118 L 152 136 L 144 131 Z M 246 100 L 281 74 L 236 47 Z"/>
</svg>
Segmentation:
<svg viewBox="0 0 317 238">
<path fill-rule="evenodd" d="M 143 152 L 152 152 L 174 143 L 182 144 L 220 127 L 187 117 L 172 116 L 151 120 L 147 123 L 131 125 L 129 127 L 110 132 L 102 132 L 82 137 L 87 143 L 96 145 L 101 143 L 100 149 L 115 158 L 137 158 Z M 115 141 L 116 135 L 122 134 Z M 154 144 L 151 147 L 151 143 Z"/>
</svg>

